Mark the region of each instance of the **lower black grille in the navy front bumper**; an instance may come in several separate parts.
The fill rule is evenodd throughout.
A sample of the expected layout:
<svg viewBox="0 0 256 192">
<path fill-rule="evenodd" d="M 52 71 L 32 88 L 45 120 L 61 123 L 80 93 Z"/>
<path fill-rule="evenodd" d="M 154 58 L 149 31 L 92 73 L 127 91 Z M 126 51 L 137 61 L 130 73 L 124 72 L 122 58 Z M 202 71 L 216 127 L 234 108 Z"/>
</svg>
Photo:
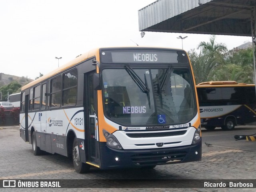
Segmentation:
<svg viewBox="0 0 256 192">
<path fill-rule="evenodd" d="M 186 156 L 185 151 L 169 152 L 169 153 L 147 153 L 136 154 L 131 156 L 131 160 L 135 165 L 164 165 L 169 163 L 177 163 L 182 161 Z"/>
</svg>

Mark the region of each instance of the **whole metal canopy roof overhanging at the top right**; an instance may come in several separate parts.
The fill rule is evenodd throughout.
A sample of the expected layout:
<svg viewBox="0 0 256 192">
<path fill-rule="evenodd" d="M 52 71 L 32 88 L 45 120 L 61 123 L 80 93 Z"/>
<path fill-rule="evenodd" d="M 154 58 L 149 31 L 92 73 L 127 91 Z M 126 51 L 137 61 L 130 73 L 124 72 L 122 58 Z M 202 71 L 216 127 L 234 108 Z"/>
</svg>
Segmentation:
<svg viewBox="0 0 256 192">
<path fill-rule="evenodd" d="M 139 30 L 252 36 L 256 0 L 157 0 L 140 9 Z"/>
</svg>

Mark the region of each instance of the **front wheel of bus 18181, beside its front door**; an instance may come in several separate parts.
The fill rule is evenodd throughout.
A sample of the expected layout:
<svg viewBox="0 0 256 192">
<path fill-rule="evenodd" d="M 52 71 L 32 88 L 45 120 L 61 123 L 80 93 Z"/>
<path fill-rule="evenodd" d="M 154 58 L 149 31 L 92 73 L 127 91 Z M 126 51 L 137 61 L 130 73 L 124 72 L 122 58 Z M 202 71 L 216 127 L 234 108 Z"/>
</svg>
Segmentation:
<svg viewBox="0 0 256 192">
<path fill-rule="evenodd" d="M 72 157 L 73 157 L 73 164 L 74 164 L 74 168 L 75 168 L 76 172 L 85 173 L 85 172 L 89 171 L 90 165 L 81 162 L 81 158 L 79 155 L 78 143 L 77 143 L 76 138 L 74 139 L 74 142 L 73 142 Z"/>
</svg>

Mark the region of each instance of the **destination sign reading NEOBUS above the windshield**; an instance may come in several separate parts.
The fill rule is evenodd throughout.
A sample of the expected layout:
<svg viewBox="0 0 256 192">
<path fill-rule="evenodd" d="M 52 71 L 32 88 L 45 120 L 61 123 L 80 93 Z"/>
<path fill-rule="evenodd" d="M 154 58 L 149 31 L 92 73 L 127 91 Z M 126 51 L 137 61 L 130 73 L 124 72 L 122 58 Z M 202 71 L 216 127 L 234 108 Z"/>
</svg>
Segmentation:
<svg viewBox="0 0 256 192">
<path fill-rule="evenodd" d="M 102 63 L 188 63 L 184 51 L 164 50 L 106 50 L 101 52 Z"/>
</svg>

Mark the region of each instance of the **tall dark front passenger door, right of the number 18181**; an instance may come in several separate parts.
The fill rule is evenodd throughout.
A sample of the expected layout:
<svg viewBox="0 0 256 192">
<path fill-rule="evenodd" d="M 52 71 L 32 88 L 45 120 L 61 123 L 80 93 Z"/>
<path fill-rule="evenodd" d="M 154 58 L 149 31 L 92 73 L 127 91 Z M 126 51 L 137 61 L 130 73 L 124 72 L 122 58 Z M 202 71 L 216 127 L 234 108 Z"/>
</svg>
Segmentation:
<svg viewBox="0 0 256 192">
<path fill-rule="evenodd" d="M 84 101 L 85 102 L 85 138 L 87 140 L 87 155 L 86 161 L 95 163 L 99 165 L 98 157 L 98 120 L 97 120 L 97 95 L 96 90 L 93 88 L 93 72 L 88 72 L 85 74 L 85 91 L 84 91 Z"/>
</svg>

